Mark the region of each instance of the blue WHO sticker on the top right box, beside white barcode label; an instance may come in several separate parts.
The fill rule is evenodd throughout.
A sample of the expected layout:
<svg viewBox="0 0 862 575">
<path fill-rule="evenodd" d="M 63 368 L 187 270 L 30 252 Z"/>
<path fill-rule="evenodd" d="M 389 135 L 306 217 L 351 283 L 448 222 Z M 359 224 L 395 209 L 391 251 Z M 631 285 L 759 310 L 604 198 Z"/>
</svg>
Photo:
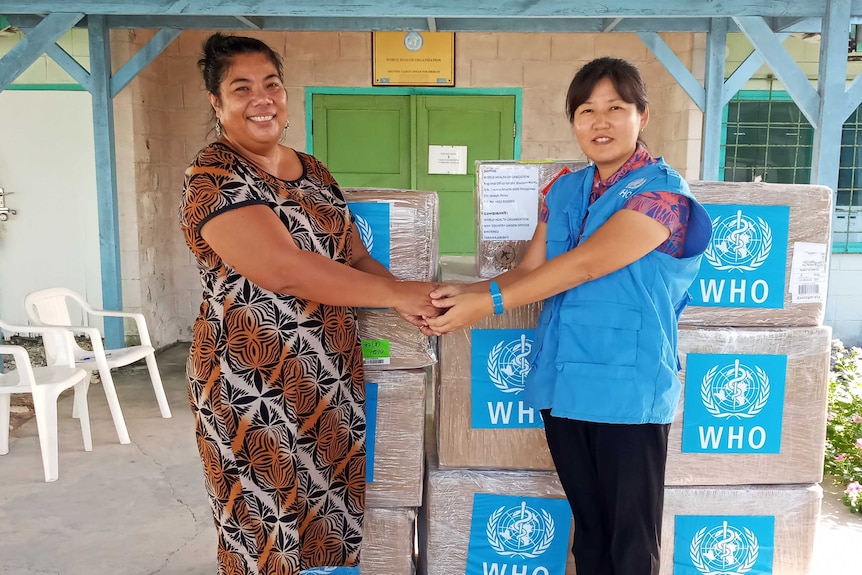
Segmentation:
<svg viewBox="0 0 862 575">
<path fill-rule="evenodd" d="M 789 206 L 704 205 L 712 238 L 692 284 L 692 305 L 783 308 Z"/>
</svg>

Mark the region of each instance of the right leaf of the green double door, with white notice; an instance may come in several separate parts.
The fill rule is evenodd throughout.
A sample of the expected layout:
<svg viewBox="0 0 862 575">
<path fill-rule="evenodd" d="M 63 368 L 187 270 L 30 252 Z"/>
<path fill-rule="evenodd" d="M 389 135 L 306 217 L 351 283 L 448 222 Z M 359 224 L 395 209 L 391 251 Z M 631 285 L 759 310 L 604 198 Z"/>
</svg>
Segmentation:
<svg viewBox="0 0 862 575">
<path fill-rule="evenodd" d="M 440 253 L 476 253 L 473 188 L 476 160 L 511 160 L 515 151 L 513 96 L 417 96 L 416 178 L 440 197 Z M 429 174 L 428 147 L 466 146 L 467 173 Z"/>
</svg>

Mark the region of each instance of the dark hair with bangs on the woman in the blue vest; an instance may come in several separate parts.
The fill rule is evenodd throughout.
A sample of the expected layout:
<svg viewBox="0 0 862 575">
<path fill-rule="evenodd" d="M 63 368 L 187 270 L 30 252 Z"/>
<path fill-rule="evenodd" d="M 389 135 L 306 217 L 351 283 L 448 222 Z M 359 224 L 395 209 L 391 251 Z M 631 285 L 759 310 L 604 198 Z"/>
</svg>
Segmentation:
<svg viewBox="0 0 862 575">
<path fill-rule="evenodd" d="M 649 103 L 646 85 L 637 67 L 628 60 L 605 56 L 584 64 L 572 78 L 566 93 L 566 115 L 570 123 L 575 119 L 575 110 L 589 99 L 603 78 L 610 79 L 623 101 L 634 104 L 641 114 L 646 112 Z"/>
</svg>

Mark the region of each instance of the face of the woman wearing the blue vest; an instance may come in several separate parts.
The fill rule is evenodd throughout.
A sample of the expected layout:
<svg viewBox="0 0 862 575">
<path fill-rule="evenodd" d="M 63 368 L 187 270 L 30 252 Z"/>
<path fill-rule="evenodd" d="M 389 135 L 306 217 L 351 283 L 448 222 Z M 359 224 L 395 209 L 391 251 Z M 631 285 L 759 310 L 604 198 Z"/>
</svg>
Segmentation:
<svg viewBox="0 0 862 575">
<path fill-rule="evenodd" d="M 624 101 L 610 78 L 596 82 L 589 98 L 574 110 L 572 129 L 578 145 L 599 170 L 603 180 L 611 177 L 637 147 L 638 134 L 649 120 L 635 104 Z"/>
</svg>

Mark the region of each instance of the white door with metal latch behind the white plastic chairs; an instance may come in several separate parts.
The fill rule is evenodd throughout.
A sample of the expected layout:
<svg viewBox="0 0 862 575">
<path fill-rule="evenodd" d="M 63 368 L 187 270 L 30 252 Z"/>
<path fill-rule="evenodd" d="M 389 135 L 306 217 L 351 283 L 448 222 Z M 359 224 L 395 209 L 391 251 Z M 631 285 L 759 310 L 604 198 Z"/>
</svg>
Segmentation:
<svg viewBox="0 0 862 575">
<path fill-rule="evenodd" d="M 38 114 L 22 113 L 39 110 Z M 0 92 L 0 318 L 27 324 L 24 296 L 67 287 L 102 301 L 90 94 Z M 83 322 L 76 310 L 73 321 Z"/>
</svg>

